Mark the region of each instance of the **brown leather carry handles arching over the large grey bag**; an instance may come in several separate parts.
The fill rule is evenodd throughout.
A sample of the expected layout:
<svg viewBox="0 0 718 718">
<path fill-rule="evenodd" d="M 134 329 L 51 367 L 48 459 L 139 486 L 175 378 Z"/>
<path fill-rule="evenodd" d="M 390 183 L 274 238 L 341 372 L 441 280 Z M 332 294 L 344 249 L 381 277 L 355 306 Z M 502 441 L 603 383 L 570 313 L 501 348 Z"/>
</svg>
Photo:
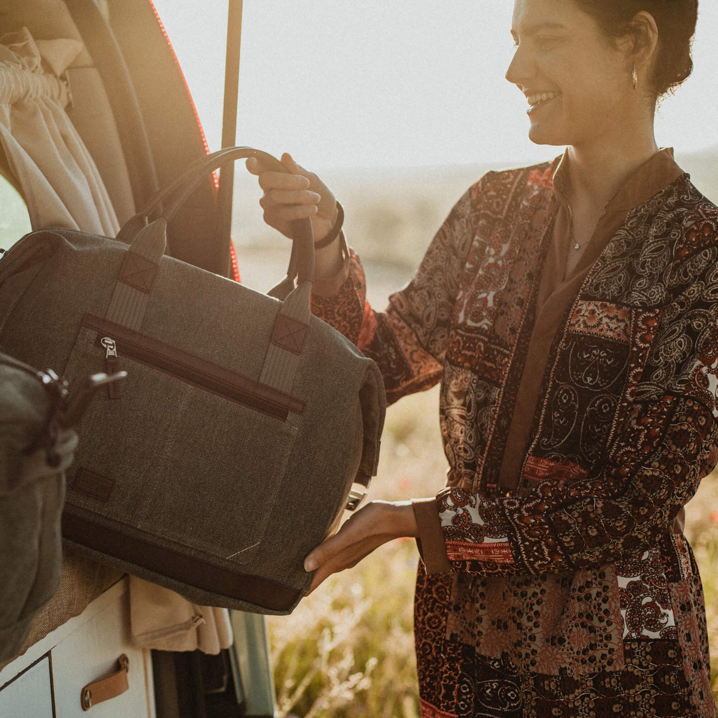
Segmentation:
<svg viewBox="0 0 718 718">
<path fill-rule="evenodd" d="M 263 152 L 252 147 L 225 147 L 206 157 L 200 157 L 190 164 L 180 177 L 177 177 L 163 190 L 157 192 L 154 197 L 142 208 L 142 210 L 131 217 L 123 225 L 116 239 L 125 243 L 131 243 L 139 239 L 140 233 L 148 226 L 148 220 L 158 209 L 161 209 L 159 219 L 164 218 L 169 221 L 172 219 L 177 210 L 187 200 L 192 192 L 195 191 L 197 185 L 205 179 L 211 172 L 222 167 L 228 162 L 234 162 L 237 159 L 246 159 L 248 157 L 256 157 L 262 164 L 274 172 L 289 172 L 279 159 L 273 157 L 267 152 Z M 163 207 L 165 202 L 169 205 Z M 157 220 L 156 220 L 157 221 Z M 269 291 L 271 297 L 277 299 L 285 299 L 289 292 L 294 289 L 294 280 L 297 284 L 304 281 L 314 281 L 314 236 L 312 234 L 312 220 L 295 220 L 292 223 L 292 256 L 289 259 L 289 269 L 287 269 L 286 277 L 277 286 Z M 159 239 L 156 241 L 159 247 Z M 167 244 L 167 238 L 164 239 L 162 253 Z M 158 251 L 153 254 L 157 255 Z"/>
</svg>

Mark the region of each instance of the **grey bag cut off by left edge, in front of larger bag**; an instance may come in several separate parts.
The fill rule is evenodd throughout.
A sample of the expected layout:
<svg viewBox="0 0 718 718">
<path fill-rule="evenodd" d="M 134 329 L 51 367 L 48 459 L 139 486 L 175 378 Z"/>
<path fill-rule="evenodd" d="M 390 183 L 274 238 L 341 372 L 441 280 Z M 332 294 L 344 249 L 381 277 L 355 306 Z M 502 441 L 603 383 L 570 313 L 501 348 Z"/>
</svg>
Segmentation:
<svg viewBox="0 0 718 718">
<path fill-rule="evenodd" d="M 63 392 L 57 376 L 0 353 L 0 662 L 60 585 L 64 470 L 76 442 L 57 430 Z"/>
</svg>

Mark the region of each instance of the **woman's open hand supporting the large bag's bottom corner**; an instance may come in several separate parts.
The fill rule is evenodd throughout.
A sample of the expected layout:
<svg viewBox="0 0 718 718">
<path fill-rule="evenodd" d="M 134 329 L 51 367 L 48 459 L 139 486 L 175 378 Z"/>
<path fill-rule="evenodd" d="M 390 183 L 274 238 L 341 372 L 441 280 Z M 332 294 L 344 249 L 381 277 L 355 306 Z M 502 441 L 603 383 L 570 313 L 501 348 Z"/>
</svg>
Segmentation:
<svg viewBox="0 0 718 718">
<path fill-rule="evenodd" d="M 371 501 L 304 559 L 306 571 L 317 571 L 307 595 L 324 579 L 355 566 L 381 544 L 418 533 L 411 501 Z"/>
</svg>

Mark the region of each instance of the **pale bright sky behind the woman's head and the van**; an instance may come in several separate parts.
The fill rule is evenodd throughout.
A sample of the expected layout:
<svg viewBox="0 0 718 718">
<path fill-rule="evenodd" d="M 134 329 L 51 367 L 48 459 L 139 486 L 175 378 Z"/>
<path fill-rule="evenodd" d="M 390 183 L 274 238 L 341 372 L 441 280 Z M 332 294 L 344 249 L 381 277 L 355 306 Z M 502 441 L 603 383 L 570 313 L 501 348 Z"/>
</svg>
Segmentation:
<svg viewBox="0 0 718 718">
<path fill-rule="evenodd" d="M 154 0 L 210 149 L 220 147 L 228 0 Z M 510 0 L 244 0 L 237 143 L 309 169 L 505 166 L 528 140 L 505 78 Z M 695 70 L 656 121 L 660 146 L 718 148 L 718 2 L 701 0 Z"/>
</svg>

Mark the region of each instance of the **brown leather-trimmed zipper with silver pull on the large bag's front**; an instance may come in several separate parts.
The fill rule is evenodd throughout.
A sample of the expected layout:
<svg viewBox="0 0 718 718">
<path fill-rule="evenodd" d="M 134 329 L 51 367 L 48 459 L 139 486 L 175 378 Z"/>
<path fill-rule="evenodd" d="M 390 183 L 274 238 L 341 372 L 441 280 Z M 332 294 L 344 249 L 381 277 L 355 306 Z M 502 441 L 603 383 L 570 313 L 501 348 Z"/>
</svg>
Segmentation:
<svg viewBox="0 0 718 718">
<path fill-rule="evenodd" d="M 289 411 L 304 411 L 304 402 L 289 394 L 115 322 L 85 314 L 83 326 L 97 332 L 95 346 L 105 351 L 108 361 L 119 363 L 127 357 L 279 421 L 286 421 Z"/>
</svg>

